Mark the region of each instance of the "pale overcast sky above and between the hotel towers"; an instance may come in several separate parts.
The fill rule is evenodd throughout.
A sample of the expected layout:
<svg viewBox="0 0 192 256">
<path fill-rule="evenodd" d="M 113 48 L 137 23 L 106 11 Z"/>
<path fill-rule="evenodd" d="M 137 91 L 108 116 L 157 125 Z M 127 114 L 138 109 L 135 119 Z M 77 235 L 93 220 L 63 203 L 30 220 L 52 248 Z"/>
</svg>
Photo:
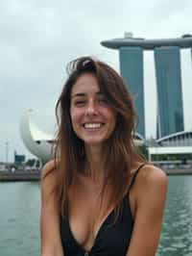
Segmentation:
<svg viewBox="0 0 192 256">
<path fill-rule="evenodd" d="M 65 66 L 91 55 L 119 71 L 118 51 L 101 46 L 110 38 L 176 38 L 192 33 L 191 0 L 1 0 L 0 1 L 0 161 L 13 150 L 30 156 L 19 134 L 21 116 L 34 110 L 45 132 L 55 127 L 55 104 Z M 156 80 L 152 52 L 144 55 L 147 137 L 156 135 Z M 192 129 L 192 65 L 181 51 L 185 130 Z"/>
</svg>

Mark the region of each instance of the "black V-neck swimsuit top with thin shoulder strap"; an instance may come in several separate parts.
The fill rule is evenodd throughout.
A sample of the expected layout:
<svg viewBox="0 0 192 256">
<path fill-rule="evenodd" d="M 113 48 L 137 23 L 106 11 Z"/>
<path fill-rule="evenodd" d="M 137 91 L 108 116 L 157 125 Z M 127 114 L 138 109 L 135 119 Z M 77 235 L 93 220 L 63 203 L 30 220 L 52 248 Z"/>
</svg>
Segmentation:
<svg viewBox="0 0 192 256">
<path fill-rule="evenodd" d="M 89 251 L 78 243 L 70 229 L 67 217 L 60 218 L 60 238 L 64 256 L 126 256 L 132 238 L 133 218 L 130 206 L 130 191 L 141 165 L 135 171 L 128 192 L 121 203 L 121 211 L 114 222 L 114 210 L 103 221 L 95 242 Z M 113 223 L 114 222 L 114 223 Z"/>
</svg>

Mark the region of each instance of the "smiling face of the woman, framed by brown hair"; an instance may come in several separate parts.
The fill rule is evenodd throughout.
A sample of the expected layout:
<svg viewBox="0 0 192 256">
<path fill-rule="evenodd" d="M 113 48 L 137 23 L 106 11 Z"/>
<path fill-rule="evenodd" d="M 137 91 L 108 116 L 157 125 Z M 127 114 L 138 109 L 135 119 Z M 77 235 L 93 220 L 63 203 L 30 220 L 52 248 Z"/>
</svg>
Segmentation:
<svg viewBox="0 0 192 256">
<path fill-rule="evenodd" d="M 83 74 L 74 84 L 70 115 L 74 132 L 87 145 L 101 144 L 113 132 L 115 113 L 93 74 Z"/>
</svg>

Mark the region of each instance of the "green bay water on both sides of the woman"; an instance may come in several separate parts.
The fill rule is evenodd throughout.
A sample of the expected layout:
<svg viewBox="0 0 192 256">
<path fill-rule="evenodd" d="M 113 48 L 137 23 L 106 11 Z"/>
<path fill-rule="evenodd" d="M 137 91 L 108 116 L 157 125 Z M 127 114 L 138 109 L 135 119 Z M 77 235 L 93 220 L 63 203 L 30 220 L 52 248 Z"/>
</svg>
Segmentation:
<svg viewBox="0 0 192 256">
<path fill-rule="evenodd" d="M 39 184 L 0 183 L 0 255 L 38 256 Z M 192 176 L 169 176 L 156 256 L 192 256 Z"/>
</svg>

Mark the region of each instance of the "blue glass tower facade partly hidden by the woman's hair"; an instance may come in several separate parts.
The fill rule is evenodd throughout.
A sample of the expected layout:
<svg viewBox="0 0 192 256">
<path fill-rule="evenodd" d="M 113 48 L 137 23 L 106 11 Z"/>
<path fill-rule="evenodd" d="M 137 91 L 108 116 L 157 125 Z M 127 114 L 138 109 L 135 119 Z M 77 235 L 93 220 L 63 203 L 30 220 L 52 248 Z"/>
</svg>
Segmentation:
<svg viewBox="0 0 192 256">
<path fill-rule="evenodd" d="M 141 47 L 120 47 L 119 55 L 121 75 L 132 94 L 138 115 L 136 132 L 145 138 L 143 49 Z"/>
</svg>

